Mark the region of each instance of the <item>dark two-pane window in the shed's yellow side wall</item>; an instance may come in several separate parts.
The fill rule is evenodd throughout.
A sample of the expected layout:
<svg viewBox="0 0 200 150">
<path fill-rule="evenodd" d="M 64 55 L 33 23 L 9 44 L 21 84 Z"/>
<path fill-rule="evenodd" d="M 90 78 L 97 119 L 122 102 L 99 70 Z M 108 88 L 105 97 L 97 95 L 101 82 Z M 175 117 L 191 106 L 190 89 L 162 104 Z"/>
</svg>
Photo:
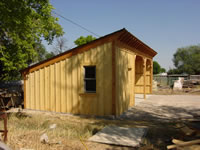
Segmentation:
<svg viewBox="0 0 200 150">
<path fill-rule="evenodd" d="M 96 66 L 84 66 L 84 88 L 87 93 L 96 92 Z"/>
</svg>

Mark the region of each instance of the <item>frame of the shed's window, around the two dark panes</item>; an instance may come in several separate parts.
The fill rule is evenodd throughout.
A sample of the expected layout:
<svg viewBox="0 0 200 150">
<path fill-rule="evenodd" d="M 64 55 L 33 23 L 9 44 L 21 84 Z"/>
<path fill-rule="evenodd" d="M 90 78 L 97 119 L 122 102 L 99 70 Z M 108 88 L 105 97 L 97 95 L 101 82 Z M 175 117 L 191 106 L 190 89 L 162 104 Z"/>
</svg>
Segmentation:
<svg viewBox="0 0 200 150">
<path fill-rule="evenodd" d="M 94 67 L 95 68 L 95 77 L 94 78 L 86 78 L 86 68 L 89 68 L 89 67 Z M 83 66 L 83 69 L 84 69 L 84 77 L 83 77 L 83 81 L 84 81 L 84 93 L 96 93 L 97 91 L 97 84 L 96 84 L 96 65 L 84 65 Z M 95 90 L 94 91 L 91 91 L 91 90 L 87 90 L 87 81 L 91 81 L 91 80 L 95 80 Z"/>
</svg>

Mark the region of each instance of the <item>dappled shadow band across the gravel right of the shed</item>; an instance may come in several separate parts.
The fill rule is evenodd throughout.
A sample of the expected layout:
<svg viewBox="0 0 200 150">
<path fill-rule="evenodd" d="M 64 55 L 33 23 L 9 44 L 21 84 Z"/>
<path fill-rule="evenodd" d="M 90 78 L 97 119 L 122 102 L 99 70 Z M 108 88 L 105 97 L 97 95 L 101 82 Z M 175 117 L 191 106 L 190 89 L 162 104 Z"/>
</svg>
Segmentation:
<svg viewBox="0 0 200 150">
<path fill-rule="evenodd" d="M 138 106 L 130 108 L 119 119 L 160 122 L 200 119 L 200 109 L 152 105 Z"/>
</svg>

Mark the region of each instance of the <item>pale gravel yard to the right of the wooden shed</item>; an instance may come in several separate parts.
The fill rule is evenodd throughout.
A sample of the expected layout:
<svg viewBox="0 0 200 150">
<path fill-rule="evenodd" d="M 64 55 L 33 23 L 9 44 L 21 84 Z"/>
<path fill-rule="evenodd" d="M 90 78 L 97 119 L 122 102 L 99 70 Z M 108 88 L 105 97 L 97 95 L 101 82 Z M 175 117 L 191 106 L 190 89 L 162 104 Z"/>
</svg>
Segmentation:
<svg viewBox="0 0 200 150">
<path fill-rule="evenodd" d="M 120 116 L 129 120 L 200 119 L 199 95 L 136 95 L 136 106 Z"/>
</svg>

